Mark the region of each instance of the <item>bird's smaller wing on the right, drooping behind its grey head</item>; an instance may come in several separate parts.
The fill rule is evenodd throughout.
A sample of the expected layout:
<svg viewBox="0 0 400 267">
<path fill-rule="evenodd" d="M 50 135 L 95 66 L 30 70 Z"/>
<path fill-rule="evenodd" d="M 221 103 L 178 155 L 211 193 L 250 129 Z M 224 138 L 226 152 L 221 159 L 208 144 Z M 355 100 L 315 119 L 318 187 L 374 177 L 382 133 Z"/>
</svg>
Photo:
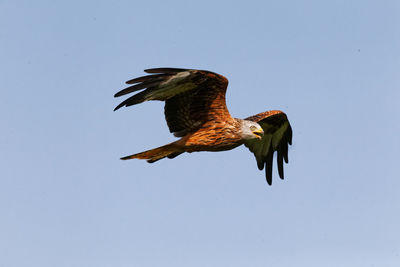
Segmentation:
<svg viewBox="0 0 400 267">
<path fill-rule="evenodd" d="M 292 127 L 285 113 L 271 110 L 246 118 L 261 125 L 264 136 L 261 140 L 252 139 L 245 141 L 245 146 L 254 153 L 258 169 L 265 166 L 265 177 L 269 185 L 272 184 L 272 160 L 277 151 L 278 172 L 281 179 L 283 175 L 283 160 L 288 163 L 288 145 L 292 144 Z"/>
</svg>

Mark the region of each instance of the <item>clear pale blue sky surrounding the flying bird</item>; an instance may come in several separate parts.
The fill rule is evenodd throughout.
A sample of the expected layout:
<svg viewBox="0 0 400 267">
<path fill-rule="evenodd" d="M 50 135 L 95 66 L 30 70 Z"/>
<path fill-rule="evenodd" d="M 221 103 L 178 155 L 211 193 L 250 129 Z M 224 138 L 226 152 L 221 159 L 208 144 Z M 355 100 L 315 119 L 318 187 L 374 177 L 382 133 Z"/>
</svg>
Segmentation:
<svg viewBox="0 0 400 267">
<path fill-rule="evenodd" d="M 0 266 L 400 266 L 400 2 L 0 1 Z M 284 110 L 269 187 L 240 147 L 155 164 L 145 68 L 228 77 Z"/>
</svg>

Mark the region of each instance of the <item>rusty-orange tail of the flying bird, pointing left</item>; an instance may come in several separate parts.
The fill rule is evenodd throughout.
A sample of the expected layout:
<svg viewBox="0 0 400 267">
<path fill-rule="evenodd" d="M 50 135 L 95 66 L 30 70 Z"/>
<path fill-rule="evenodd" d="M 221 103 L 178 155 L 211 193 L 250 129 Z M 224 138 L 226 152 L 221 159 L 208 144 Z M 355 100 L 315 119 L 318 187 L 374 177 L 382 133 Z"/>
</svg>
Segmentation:
<svg viewBox="0 0 400 267">
<path fill-rule="evenodd" d="M 141 153 L 133 154 L 130 156 L 123 157 L 121 159 L 147 159 L 147 162 L 153 163 L 156 162 L 157 160 L 163 159 L 163 158 L 175 158 L 176 156 L 182 154 L 183 151 L 179 147 L 177 147 L 174 143 L 157 147 L 151 150 L 147 150 Z"/>
</svg>

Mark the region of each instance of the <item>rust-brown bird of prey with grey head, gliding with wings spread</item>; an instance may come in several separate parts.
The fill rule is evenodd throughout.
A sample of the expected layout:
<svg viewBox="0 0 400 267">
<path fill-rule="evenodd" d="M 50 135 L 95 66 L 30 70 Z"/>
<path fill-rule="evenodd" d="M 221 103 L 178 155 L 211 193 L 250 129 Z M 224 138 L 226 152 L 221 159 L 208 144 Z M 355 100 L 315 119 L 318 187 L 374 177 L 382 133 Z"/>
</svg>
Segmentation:
<svg viewBox="0 0 400 267">
<path fill-rule="evenodd" d="M 288 163 L 292 128 L 280 110 L 258 113 L 245 119 L 233 118 L 226 106 L 228 79 L 223 75 L 198 69 L 151 68 L 148 75 L 126 82 L 129 87 L 114 97 L 131 95 L 114 111 L 146 101 L 164 101 L 164 115 L 175 142 L 141 153 L 122 157 L 145 159 L 149 163 L 175 158 L 182 153 L 225 151 L 245 145 L 255 156 L 259 170 L 272 184 L 273 156 L 277 152 L 279 177 L 284 179 L 283 161 Z"/>
</svg>

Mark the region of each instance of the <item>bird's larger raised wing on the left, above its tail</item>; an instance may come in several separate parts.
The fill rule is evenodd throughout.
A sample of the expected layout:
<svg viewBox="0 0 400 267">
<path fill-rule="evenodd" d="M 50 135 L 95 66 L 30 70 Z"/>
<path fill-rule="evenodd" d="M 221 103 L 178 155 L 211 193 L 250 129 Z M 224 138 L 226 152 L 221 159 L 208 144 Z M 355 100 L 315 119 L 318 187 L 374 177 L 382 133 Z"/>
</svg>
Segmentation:
<svg viewBox="0 0 400 267">
<path fill-rule="evenodd" d="M 175 68 L 147 69 L 147 75 L 127 81 L 133 84 L 114 95 L 143 90 L 119 104 L 132 106 L 149 100 L 165 101 L 165 119 L 170 132 L 184 136 L 209 120 L 230 116 L 225 103 L 228 80 L 204 70 Z"/>
</svg>

